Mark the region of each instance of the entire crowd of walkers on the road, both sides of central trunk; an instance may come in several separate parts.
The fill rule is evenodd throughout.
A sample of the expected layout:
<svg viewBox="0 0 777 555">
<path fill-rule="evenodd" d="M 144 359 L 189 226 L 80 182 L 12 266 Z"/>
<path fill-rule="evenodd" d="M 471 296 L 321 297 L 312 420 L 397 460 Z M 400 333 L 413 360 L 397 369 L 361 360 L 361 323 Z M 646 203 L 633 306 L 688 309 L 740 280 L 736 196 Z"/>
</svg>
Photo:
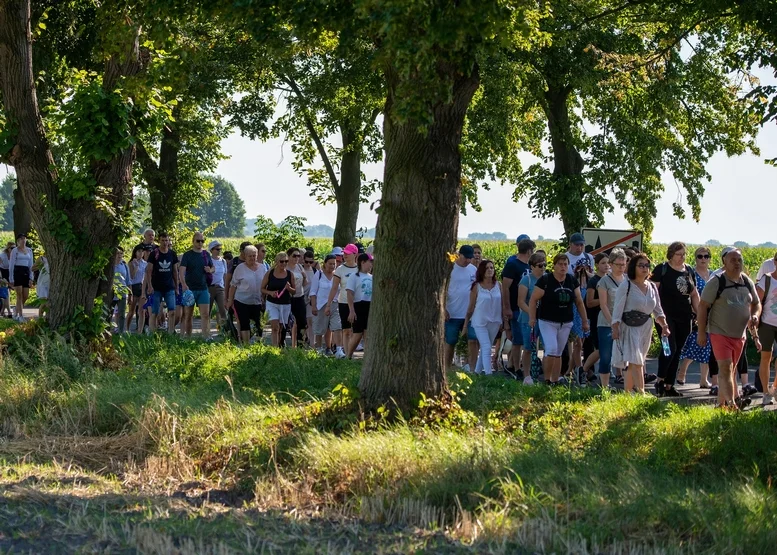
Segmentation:
<svg viewBox="0 0 777 555">
<path fill-rule="evenodd" d="M 158 241 L 158 242 L 157 242 Z M 549 257 L 521 235 L 517 252 L 497 275 L 494 261 L 478 245 L 460 247 L 450 274 L 445 304 L 445 358 L 450 366 L 461 340 L 463 369 L 486 375 L 504 370 L 527 383 L 550 386 L 574 382 L 682 396 L 692 362 L 700 365 L 699 387 L 709 389 L 722 407 L 742 408 L 769 385 L 777 340 L 777 254 L 764 261 L 755 281 L 744 272 L 742 253 L 726 247 L 720 268 L 712 270 L 707 247 L 686 264 L 685 244 L 669 245 L 666 260 L 653 266 L 645 253 L 623 245 L 593 256 L 582 234 L 572 234 L 565 253 Z M 166 233 L 152 229 L 129 261 L 116 250 L 114 318 L 116 331 L 166 330 L 191 337 L 195 310 L 201 336 L 216 329 L 242 343 L 263 335 L 267 315 L 272 345 L 307 344 L 322 355 L 350 358 L 367 341 L 372 300 L 371 247 L 352 243 L 316 258 L 312 248 L 290 247 L 266 260 L 264 244 L 240 245 L 234 256 L 223 244 L 207 247 L 194 233 L 182 255 Z M 24 235 L 0 252 L 0 314 L 23 320 L 23 307 L 36 286 L 45 310 L 50 287 L 49 262 L 37 259 Z M 16 294 L 12 313 L 10 290 Z M 654 330 L 661 338 L 658 372 L 646 362 Z M 746 333 L 760 351 L 755 384 L 749 383 L 744 356 Z M 539 354 L 542 353 L 540 357 Z M 598 365 L 598 369 L 597 369 Z M 736 377 L 742 385 L 736 385 Z"/>
</svg>

